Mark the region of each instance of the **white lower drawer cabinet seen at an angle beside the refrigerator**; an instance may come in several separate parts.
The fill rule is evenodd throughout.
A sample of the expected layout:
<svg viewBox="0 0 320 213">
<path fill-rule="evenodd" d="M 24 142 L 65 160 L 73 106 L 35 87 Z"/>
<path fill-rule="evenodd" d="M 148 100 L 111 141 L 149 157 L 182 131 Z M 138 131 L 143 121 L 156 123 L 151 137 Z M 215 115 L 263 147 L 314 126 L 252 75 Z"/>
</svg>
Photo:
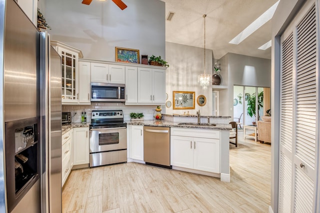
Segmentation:
<svg viewBox="0 0 320 213">
<path fill-rule="evenodd" d="M 70 174 L 71 168 L 73 166 L 73 156 L 72 156 L 72 144 L 73 144 L 73 129 L 65 132 L 61 138 L 61 183 L 62 186 Z"/>
</svg>

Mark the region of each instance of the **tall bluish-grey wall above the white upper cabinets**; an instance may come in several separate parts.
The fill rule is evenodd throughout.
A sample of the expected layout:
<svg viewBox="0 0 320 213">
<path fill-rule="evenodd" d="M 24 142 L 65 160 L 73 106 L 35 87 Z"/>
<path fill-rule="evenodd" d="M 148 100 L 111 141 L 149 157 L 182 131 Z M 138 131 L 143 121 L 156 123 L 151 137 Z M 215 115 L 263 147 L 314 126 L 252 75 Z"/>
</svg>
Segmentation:
<svg viewBox="0 0 320 213">
<path fill-rule="evenodd" d="M 165 3 L 127 0 L 121 10 L 111 0 L 45 0 L 44 16 L 52 40 L 82 50 L 85 58 L 115 60 L 115 46 L 165 59 Z M 140 56 L 141 58 L 141 56 Z"/>
</svg>

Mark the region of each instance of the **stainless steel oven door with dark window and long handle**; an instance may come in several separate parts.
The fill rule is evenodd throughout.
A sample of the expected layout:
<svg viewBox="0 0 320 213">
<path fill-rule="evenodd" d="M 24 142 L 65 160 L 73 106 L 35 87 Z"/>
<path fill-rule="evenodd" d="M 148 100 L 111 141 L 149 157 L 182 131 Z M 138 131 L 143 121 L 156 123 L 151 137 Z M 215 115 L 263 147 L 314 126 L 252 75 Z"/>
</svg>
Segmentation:
<svg viewBox="0 0 320 213">
<path fill-rule="evenodd" d="M 126 127 L 90 129 L 90 153 L 126 149 Z"/>
</svg>

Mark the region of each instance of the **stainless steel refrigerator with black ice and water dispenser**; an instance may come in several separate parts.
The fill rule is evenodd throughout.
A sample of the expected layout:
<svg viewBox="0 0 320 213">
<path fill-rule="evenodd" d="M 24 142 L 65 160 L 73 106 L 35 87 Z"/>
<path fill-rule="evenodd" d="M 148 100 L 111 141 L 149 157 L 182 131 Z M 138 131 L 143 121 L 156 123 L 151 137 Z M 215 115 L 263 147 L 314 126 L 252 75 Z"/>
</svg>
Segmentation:
<svg viewBox="0 0 320 213">
<path fill-rule="evenodd" d="M 61 212 L 61 58 L 14 0 L 0 11 L 0 211 Z"/>
</svg>

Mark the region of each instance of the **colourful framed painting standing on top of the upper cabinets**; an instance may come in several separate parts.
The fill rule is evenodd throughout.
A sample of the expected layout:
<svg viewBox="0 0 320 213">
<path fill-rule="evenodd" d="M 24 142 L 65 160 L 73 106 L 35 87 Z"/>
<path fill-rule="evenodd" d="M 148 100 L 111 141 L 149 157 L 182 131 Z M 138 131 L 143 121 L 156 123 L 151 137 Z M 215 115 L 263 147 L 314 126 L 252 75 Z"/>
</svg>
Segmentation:
<svg viewBox="0 0 320 213">
<path fill-rule="evenodd" d="M 139 50 L 115 47 L 115 61 L 126 63 L 140 63 Z"/>
</svg>

